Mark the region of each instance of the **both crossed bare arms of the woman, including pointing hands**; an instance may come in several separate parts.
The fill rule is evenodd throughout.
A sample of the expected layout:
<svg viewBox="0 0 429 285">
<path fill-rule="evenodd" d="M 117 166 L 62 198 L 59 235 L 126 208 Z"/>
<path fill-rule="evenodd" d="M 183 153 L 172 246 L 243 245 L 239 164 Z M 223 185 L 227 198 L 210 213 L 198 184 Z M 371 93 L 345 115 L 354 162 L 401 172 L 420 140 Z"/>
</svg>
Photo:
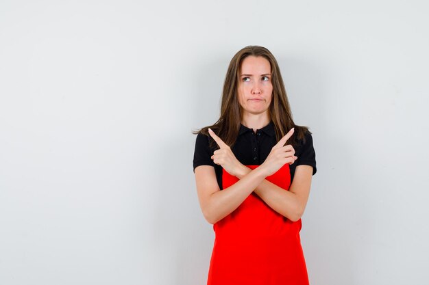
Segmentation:
<svg viewBox="0 0 429 285">
<path fill-rule="evenodd" d="M 239 179 L 234 185 L 221 191 L 214 167 L 200 165 L 195 168 L 199 205 L 209 223 L 216 223 L 232 213 L 252 192 L 256 193 L 274 211 L 291 221 L 297 221 L 302 217 L 310 193 L 312 166 L 298 165 L 296 167 L 289 191 L 285 191 L 265 179 L 277 172 L 282 165 L 292 164 L 297 159 L 293 147 L 284 146 L 287 139 L 293 135 L 293 129 L 273 146 L 264 163 L 253 170 L 241 164 L 230 147 L 223 143 L 215 133 L 211 130 L 209 133 L 219 145 L 219 150 L 214 152 L 212 160 Z"/>
</svg>

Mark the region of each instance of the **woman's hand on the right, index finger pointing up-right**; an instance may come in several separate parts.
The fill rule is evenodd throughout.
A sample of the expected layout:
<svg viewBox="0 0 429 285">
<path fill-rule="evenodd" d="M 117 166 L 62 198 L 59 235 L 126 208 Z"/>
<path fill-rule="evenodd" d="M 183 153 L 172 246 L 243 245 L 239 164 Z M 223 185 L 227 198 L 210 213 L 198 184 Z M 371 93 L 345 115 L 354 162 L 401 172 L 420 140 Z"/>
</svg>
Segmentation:
<svg viewBox="0 0 429 285">
<path fill-rule="evenodd" d="M 295 162 L 297 157 L 295 157 L 295 150 L 293 147 L 288 144 L 287 146 L 284 146 L 286 144 L 286 141 L 290 139 L 293 135 L 294 128 L 291 128 L 291 131 L 289 133 L 286 133 L 280 141 L 278 141 L 275 146 L 271 149 L 271 152 L 269 152 L 267 159 L 265 159 L 264 163 L 260 165 L 265 170 L 265 174 L 267 176 L 273 175 L 275 172 L 278 171 L 283 165 L 286 163 L 292 164 Z"/>
</svg>

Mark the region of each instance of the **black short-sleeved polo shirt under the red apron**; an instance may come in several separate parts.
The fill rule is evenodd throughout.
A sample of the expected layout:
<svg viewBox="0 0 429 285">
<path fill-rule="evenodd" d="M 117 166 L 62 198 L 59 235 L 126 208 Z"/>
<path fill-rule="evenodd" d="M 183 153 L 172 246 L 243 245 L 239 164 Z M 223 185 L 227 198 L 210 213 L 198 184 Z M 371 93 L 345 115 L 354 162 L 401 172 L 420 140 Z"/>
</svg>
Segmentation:
<svg viewBox="0 0 429 285">
<path fill-rule="evenodd" d="M 194 171 L 195 167 L 199 165 L 211 165 L 215 167 L 217 182 L 219 188 L 222 189 L 222 167 L 213 163 L 211 159 L 215 149 L 210 148 L 209 139 L 212 140 L 212 137 L 201 133 L 197 135 L 193 160 Z M 261 165 L 267 159 L 271 148 L 275 144 L 277 144 L 277 141 L 275 139 L 273 122 L 270 122 L 260 130 L 256 130 L 256 133 L 254 133 L 252 128 L 247 128 L 242 124 L 236 142 L 232 146 L 232 153 L 234 153 L 236 159 L 243 165 Z M 312 166 L 312 174 L 316 173 L 316 154 L 312 146 L 312 136 L 310 133 L 305 134 L 305 143 L 304 141 L 299 141 L 299 146 L 295 147 L 295 157 L 298 157 L 297 160 L 289 165 L 291 182 L 293 181 L 297 165 L 310 165 Z"/>
</svg>

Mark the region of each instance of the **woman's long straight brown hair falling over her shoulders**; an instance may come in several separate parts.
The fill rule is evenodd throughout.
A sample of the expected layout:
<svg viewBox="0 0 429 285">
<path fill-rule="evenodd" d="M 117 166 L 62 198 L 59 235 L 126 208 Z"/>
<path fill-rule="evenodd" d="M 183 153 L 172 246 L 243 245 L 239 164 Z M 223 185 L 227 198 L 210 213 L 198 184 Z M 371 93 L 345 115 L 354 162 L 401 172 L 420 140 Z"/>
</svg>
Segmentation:
<svg viewBox="0 0 429 285">
<path fill-rule="evenodd" d="M 248 56 L 265 57 L 271 65 L 271 83 L 273 84 L 273 94 L 269 107 L 269 116 L 273 121 L 275 129 L 275 137 L 279 141 L 286 133 L 295 127 L 294 135 L 291 137 L 289 144 L 297 145 L 297 140 L 304 139 L 304 134 L 308 132 L 306 126 L 297 126 L 293 122 L 291 107 L 284 89 L 282 74 L 274 55 L 263 46 L 245 46 L 232 57 L 230 66 L 225 76 L 223 84 L 221 116 L 219 120 L 212 126 L 205 126 L 194 134 L 208 134 L 208 128 L 211 128 L 215 133 L 232 148 L 235 144 L 236 137 L 241 125 L 241 106 L 238 103 L 238 82 L 240 80 L 241 64 Z M 210 137 L 211 138 L 211 137 Z M 210 146 L 217 148 L 217 144 L 213 139 L 210 139 Z"/>
</svg>

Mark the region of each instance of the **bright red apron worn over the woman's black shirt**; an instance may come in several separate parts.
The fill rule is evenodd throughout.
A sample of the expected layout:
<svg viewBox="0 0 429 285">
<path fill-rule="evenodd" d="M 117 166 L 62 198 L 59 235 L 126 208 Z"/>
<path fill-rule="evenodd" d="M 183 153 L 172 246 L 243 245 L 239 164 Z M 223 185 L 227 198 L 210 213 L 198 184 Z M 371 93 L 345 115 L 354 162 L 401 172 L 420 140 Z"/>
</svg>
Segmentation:
<svg viewBox="0 0 429 285">
<path fill-rule="evenodd" d="M 258 165 L 247 165 L 255 169 Z M 267 180 L 289 189 L 289 164 Z M 223 170 L 226 189 L 238 181 Z M 308 276 L 299 230 L 252 193 L 227 217 L 213 226 L 213 247 L 208 285 L 307 285 Z"/>
</svg>

